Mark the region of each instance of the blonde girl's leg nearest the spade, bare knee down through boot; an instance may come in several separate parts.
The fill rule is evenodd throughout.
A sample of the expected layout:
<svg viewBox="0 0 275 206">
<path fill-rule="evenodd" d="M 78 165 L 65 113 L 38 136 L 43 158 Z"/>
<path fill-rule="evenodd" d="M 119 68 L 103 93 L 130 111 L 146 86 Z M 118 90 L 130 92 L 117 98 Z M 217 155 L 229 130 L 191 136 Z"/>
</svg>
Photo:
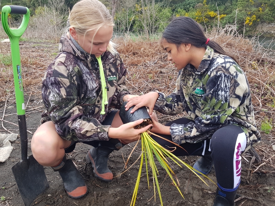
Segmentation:
<svg viewBox="0 0 275 206">
<path fill-rule="evenodd" d="M 87 186 L 71 159 L 63 159 L 65 148 L 71 142 L 61 138 L 51 121 L 42 124 L 32 137 L 31 147 L 34 158 L 43 166 L 58 171 L 69 197 L 78 199 L 87 194 Z"/>
</svg>

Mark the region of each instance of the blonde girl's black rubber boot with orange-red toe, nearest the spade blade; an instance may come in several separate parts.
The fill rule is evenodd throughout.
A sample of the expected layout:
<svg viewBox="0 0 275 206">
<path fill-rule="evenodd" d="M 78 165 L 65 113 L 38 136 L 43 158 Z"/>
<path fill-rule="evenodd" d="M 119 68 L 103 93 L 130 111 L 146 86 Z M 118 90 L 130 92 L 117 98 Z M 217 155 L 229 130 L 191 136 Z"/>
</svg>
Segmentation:
<svg viewBox="0 0 275 206">
<path fill-rule="evenodd" d="M 54 171 L 58 171 L 63 182 L 66 193 L 73 199 L 79 199 L 88 193 L 88 189 L 83 177 L 74 166 L 71 159 L 66 160 L 66 155 L 56 167 L 52 167 Z"/>
</svg>

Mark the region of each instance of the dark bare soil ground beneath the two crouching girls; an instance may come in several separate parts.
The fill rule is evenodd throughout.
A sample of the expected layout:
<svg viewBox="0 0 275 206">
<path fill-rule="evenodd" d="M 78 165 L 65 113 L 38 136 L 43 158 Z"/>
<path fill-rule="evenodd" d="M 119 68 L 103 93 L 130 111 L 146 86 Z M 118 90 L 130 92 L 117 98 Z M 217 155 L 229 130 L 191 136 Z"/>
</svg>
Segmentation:
<svg viewBox="0 0 275 206">
<path fill-rule="evenodd" d="M 28 100 L 26 100 L 28 101 Z M 33 102 L 33 103 L 32 103 Z M 34 103 L 35 102 L 35 103 Z M 2 102 L 3 103 L 3 102 Z M 32 104 L 30 104 L 32 103 Z M 37 104 L 36 100 L 31 100 L 29 102 L 30 108 L 37 108 L 42 106 L 41 103 Z M 3 110 L 1 110 L 3 112 Z M 5 114 L 14 114 L 16 113 L 16 108 L 14 104 L 11 104 L 7 107 Z M 2 113 L 3 114 L 3 113 Z M 0 113 L 1 116 L 1 113 Z M 9 122 L 17 123 L 17 116 L 10 115 L 6 118 Z M 27 127 L 31 132 L 35 131 L 35 128 L 39 125 L 40 112 L 34 111 L 27 115 Z M 15 128 L 7 122 L 3 122 L 5 128 Z M 18 131 L 14 131 L 18 132 Z M 29 133 L 29 155 L 30 152 L 30 140 L 32 135 Z M 265 148 L 270 147 L 272 142 L 266 140 L 267 137 L 263 137 L 263 142 L 260 146 L 256 148 Z M 274 143 L 273 143 L 274 144 Z M 20 194 L 15 183 L 15 179 L 11 172 L 11 167 L 15 165 L 21 159 L 20 153 L 20 140 L 16 140 L 12 143 L 14 149 L 11 153 L 11 156 L 5 163 L 0 163 L 0 196 L 5 197 L 5 201 L 0 201 L 0 205 L 13 205 L 13 206 L 23 206 Z M 119 175 L 123 171 L 124 159 L 127 159 L 129 156 L 134 143 L 126 145 L 119 151 L 114 151 L 111 153 L 109 158 L 109 167 L 112 170 L 114 176 Z M 50 188 L 47 189 L 44 193 L 40 194 L 37 199 L 32 203 L 32 205 L 37 206 L 67 206 L 67 205 L 79 205 L 79 206 L 89 206 L 89 205 L 98 205 L 98 206 L 122 206 L 130 205 L 133 189 L 135 186 L 135 181 L 139 169 L 139 161 L 126 173 L 122 174 L 121 177 L 115 178 L 110 183 L 105 183 L 99 181 L 95 178 L 92 172 L 91 165 L 87 165 L 85 161 L 85 156 L 87 151 L 90 149 L 90 146 L 87 144 L 78 143 L 73 152 L 68 154 L 68 158 L 71 158 L 74 163 L 77 165 L 78 170 L 85 178 L 89 193 L 78 200 L 70 199 L 66 192 L 64 191 L 62 179 L 60 175 L 54 172 L 50 167 L 44 167 L 46 177 Z M 258 150 L 257 149 L 257 150 Z M 259 149 L 260 150 L 260 149 Z M 133 152 L 132 157 L 129 161 L 129 165 L 132 165 L 135 160 L 140 155 L 140 144 Z M 273 152 L 275 153 L 275 152 Z M 245 158 L 250 162 L 252 156 L 247 152 Z M 189 165 L 193 165 L 198 157 L 181 157 Z M 262 157 L 263 159 L 263 157 Z M 274 161 L 274 159 L 273 159 Z M 262 161 L 263 163 L 263 161 Z M 241 175 L 241 185 L 237 193 L 236 198 L 242 197 L 239 201 L 236 201 L 236 205 L 243 206 L 252 206 L 252 205 L 265 205 L 265 206 L 275 206 L 275 173 L 266 172 L 263 173 L 259 170 L 252 173 L 252 175 L 247 175 L 249 170 L 250 163 L 242 161 L 242 175 Z M 259 165 L 259 164 L 258 164 Z M 256 166 L 258 166 L 256 165 Z M 180 190 L 184 193 L 184 198 L 180 196 L 177 189 L 171 184 L 171 181 L 166 177 L 165 171 L 161 169 L 161 166 L 158 164 L 158 169 L 160 176 L 158 177 L 159 182 L 162 183 L 161 192 L 164 205 L 176 206 L 176 205 L 213 205 L 214 193 L 216 187 L 210 181 L 207 181 L 209 187 L 200 181 L 193 173 L 191 173 L 187 168 L 179 168 L 176 165 L 174 166 L 174 172 L 176 173 L 180 181 Z M 255 170 L 255 168 L 251 168 Z M 269 170 L 268 167 L 261 167 L 262 170 Z M 145 174 L 145 167 L 143 168 L 143 173 L 140 181 L 140 187 L 138 191 L 138 199 L 136 201 L 137 206 L 141 205 L 160 205 L 160 200 L 158 195 L 156 195 L 156 202 L 152 196 L 154 195 L 154 189 L 152 186 L 152 179 L 150 181 L 150 189 L 147 186 L 147 179 Z M 213 181 L 215 181 L 215 169 L 213 167 L 212 171 L 208 175 Z M 166 177 L 166 178 L 165 178 Z M 152 199 L 151 199 L 152 198 Z M 148 201 L 151 199 L 150 201 Z"/>
</svg>

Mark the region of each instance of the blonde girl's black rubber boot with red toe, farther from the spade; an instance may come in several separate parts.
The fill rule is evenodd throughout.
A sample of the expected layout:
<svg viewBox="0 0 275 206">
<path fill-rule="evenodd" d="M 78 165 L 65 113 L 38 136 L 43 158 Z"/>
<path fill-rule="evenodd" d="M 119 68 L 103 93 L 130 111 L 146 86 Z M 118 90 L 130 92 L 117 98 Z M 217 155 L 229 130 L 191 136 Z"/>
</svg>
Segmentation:
<svg viewBox="0 0 275 206">
<path fill-rule="evenodd" d="M 95 177 L 110 182 L 113 179 L 113 173 L 108 168 L 109 154 L 114 150 L 119 150 L 125 144 L 121 143 L 118 139 L 110 139 L 109 141 L 100 141 L 98 147 L 92 147 L 86 155 L 86 161 L 92 164 L 94 168 Z"/>
</svg>

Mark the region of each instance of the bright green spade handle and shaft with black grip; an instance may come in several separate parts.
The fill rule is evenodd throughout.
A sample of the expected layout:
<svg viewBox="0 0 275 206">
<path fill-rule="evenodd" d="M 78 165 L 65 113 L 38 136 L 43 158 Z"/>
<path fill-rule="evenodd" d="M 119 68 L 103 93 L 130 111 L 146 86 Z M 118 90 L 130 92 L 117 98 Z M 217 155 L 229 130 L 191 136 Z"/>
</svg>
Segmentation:
<svg viewBox="0 0 275 206">
<path fill-rule="evenodd" d="M 8 14 L 23 14 L 23 20 L 19 28 L 11 29 L 8 24 Z M 21 62 L 19 53 L 19 38 L 22 36 L 26 30 L 30 19 L 30 10 L 27 7 L 6 5 L 2 8 L 1 20 L 4 31 L 9 36 L 11 42 L 11 60 L 13 68 L 13 79 L 15 87 L 15 99 L 16 99 L 16 109 L 17 115 L 25 114 L 25 104 L 23 95 L 23 82 L 21 75 Z"/>
</svg>

